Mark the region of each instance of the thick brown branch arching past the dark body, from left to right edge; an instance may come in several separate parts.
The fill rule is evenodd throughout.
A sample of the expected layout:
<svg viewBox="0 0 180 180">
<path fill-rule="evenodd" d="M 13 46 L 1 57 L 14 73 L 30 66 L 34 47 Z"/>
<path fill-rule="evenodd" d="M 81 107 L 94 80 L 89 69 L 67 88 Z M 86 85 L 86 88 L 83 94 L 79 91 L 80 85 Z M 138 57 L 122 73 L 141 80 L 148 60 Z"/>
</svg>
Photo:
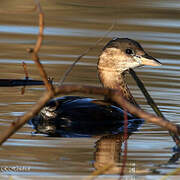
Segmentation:
<svg viewBox="0 0 180 180">
<path fill-rule="evenodd" d="M 142 119 L 145 119 L 149 123 L 154 123 L 158 126 L 161 126 L 164 129 L 174 132 L 177 135 L 180 135 L 180 127 L 174 125 L 171 122 L 166 121 L 161 117 L 157 117 L 153 114 L 147 113 L 136 106 L 129 103 L 121 96 L 121 92 L 118 90 L 112 90 L 107 88 L 93 87 L 93 86 L 84 86 L 84 85 L 62 85 L 54 89 L 54 94 L 50 91 L 46 92 L 41 99 L 33 105 L 32 109 L 20 117 L 17 121 L 12 122 L 10 127 L 8 127 L 0 137 L 0 145 L 5 142 L 11 135 L 13 135 L 19 128 L 21 128 L 29 119 L 34 117 L 45 103 L 52 97 L 61 95 L 61 94 L 71 94 L 75 92 L 80 92 L 84 94 L 94 94 L 94 95 L 108 95 L 111 96 L 112 100 L 119 104 L 124 109 L 127 109 L 128 112 L 134 114 Z"/>
</svg>

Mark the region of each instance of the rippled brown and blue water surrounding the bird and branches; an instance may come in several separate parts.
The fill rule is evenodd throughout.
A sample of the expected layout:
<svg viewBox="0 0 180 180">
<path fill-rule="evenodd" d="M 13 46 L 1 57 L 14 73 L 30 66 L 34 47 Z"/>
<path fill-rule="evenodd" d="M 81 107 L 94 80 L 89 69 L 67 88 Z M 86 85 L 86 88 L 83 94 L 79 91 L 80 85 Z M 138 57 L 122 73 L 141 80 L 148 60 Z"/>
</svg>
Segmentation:
<svg viewBox="0 0 180 180">
<path fill-rule="evenodd" d="M 163 66 L 136 69 L 163 114 L 173 123 L 180 115 L 180 3 L 174 1 L 43 1 L 45 40 L 39 53 L 49 77 L 58 82 L 65 69 L 87 48 L 111 33 L 97 48 L 91 50 L 74 68 L 66 82 L 100 86 L 96 63 L 102 47 L 112 37 L 137 40 Z M 0 76 L 24 78 L 22 61 L 28 65 L 29 76 L 40 79 L 27 48 L 36 42 L 37 14 L 31 11 L 33 1 L 3 1 L 0 8 Z M 143 95 L 129 77 L 128 84 L 143 109 L 152 112 Z M 43 87 L 0 89 L 0 131 L 31 106 L 43 94 Z M 13 175 L 89 175 L 107 162 L 121 164 L 120 138 L 52 138 L 32 135 L 25 125 L 0 148 L 2 174 Z M 96 145 L 97 143 L 97 145 Z M 96 146 L 95 146 L 96 145 Z M 168 132 L 145 123 L 129 137 L 127 174 L 161 175 L 179 167 L 167 164 L 173 156 L 174 143 Z M 122 150 L 123 150 L 122 145 Z M 119 173 L 119 166 L 112 174 Z M 7 167 L 7 168 L 6 168 Z M 17 167 L 17 170 L 12 170 Z M 24 168 L 24 169 L 23 169 Z M 16 172 L 17 171 L 17 172 Z M 135 171 L 135 172 L 134 172 Z"/>
</svg>

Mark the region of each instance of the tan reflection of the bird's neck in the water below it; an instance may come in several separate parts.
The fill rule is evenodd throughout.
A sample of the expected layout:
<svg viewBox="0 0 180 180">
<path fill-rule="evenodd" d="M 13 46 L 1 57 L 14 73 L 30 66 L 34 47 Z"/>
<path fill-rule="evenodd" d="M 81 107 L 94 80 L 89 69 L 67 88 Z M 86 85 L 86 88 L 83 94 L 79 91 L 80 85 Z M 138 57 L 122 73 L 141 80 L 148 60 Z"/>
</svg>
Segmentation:
<svg viewBox="0 0 180 180">
<path fill-rule="evenodd" d="M 128 137 L 130 134 L 128 134 Z M 107 164 L 113 164 L 112 168 L 107 170 L 105 174 L 119 174 L 122 168 L 122 145 L 124 143 L 124 135 L 107 135 L 101 137 L 96 142 L 96 151 L 94 153 L 94 168 L 102 169 Z M 135 172 L 134 163 L 126 163 L 124 173 L 132 174 Z"/>
</svg>

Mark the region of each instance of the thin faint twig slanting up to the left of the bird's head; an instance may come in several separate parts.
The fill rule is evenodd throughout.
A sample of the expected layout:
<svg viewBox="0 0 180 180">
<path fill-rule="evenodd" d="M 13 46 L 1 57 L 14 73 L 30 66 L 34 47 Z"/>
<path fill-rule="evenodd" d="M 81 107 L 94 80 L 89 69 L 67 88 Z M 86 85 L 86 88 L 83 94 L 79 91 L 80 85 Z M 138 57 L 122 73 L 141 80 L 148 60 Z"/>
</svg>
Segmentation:
<svg viewBox="0 0 180 180">
<path fill-rule="evenodd" d="M 60 79 L 59 85 L 62 85 L 65 81 L 65 79 L 67 78 L 67 76 L 69 75 L 69 73 L 72 71 L 72 69 L 74 68 L 74 66 L 76 65 L 76 63 L 82 58 L 84 57 L 89 51 L 91 51 L 92 49 L 94 49 L 113 29 L 114 27 L 114 23 L 108 28 L 107 32 L 104 34 L 104 36 L 100 39 L 98 39 L 95 44 L 86 49 L 74 62 L 73 64 L 65 71 L 64 75 L 62 76 L 62 78 Z"/>
</svg>

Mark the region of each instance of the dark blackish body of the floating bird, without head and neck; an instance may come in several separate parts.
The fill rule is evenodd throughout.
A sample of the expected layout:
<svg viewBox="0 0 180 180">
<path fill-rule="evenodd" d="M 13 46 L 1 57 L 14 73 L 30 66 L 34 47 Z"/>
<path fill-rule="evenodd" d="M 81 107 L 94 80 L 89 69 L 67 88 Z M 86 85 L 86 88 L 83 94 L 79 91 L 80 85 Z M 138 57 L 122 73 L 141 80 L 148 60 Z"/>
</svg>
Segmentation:
<svg viewBox="0 0 180 180">
<path fill-rule="evenodd" d="M 127 117 L 128 132 L 137 130 L 143 122 L 129 113 Z M 94 99 L 65 96 L 51 100 L 31 123 L 37 132 L 51 136 L 119 134 L 124 130 L 124 111 L 113 105 L 94 103 Z"/>
</svg>

